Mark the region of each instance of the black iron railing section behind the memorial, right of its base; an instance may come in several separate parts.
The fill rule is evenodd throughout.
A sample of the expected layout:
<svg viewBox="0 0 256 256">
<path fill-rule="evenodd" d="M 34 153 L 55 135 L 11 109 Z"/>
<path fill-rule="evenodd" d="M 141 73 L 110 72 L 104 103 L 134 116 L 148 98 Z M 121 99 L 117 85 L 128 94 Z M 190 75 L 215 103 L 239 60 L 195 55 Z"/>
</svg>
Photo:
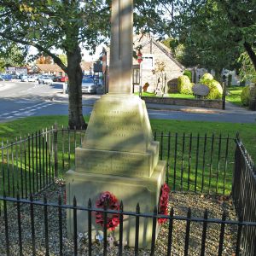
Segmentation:
<svg viewBox="0 0 256 256">
<path fill-rule="evenodd" d="M 220 135 L 154 133 L 160 160 L 166 160 L 166 181 L 172 190 L 229 195 L 234 141 Z"/>
</svg>

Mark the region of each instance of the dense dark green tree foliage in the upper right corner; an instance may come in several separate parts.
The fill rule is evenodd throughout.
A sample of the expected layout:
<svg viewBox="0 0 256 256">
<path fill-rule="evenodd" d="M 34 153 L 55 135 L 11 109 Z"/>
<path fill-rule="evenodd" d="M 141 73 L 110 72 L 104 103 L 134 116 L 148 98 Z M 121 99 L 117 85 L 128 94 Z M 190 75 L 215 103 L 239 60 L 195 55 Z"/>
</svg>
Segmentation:
<svg viewBox="0 0 256 256">
<path fill-rule="evenodd" d="M 162 32 L 184 46 L 184 59 L 221 70 L 246 51 L 254 69 L 255 0 L 159 1 Z M 187 56 L 186 56 L 187 55 Z M 193 63 L 193 62 L 192 62 Z"/>
</svg>

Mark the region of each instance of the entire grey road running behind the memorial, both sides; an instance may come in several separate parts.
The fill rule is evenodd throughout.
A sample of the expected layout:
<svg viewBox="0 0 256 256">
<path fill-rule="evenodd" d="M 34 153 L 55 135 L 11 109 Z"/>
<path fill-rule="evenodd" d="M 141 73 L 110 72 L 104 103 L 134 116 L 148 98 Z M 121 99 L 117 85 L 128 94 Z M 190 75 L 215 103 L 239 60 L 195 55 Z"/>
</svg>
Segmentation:
<svg viewBox="0 0 256 256">
<path fill-rule="evenodd" d="M 90 114 L 99 96 L 83 96 L 83 113 Z M 256 112 L 227 104 L 227 110 L 187 108 L 148 104 L 151 119 L 179 119 L 232 123 L 256 123 Z M 0 81 L 0 122 L 27 116 L 59 115 L 68 113 L 67 96 L 62 84 L 38 84 Z"/>
</svg>

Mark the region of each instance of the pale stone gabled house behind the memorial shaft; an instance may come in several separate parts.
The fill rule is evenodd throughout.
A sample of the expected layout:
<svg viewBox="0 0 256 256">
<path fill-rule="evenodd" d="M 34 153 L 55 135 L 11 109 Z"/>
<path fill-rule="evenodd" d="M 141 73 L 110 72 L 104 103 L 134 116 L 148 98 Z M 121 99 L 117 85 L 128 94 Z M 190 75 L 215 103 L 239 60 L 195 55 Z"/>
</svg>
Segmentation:
<svg viewBox="0 0 256 256">
<path fill-rule="evenodd" d="M 155 92 L 164 88 L 167 91 L 173 81 L 177 88 L 177 78 L 183 74 L 184 67 L 172 57 L 170 49 L 147 35 L 134 35 L 133 44 L 134 51 L 140 51 L 143 57 L 141 64 L 133 58 L 133 91 L 139 90 L 140 75 L 141 85 L 149 84 L 147 91 Z M 107 55 L 109 67 L 109 48 Z"/>
</svg>

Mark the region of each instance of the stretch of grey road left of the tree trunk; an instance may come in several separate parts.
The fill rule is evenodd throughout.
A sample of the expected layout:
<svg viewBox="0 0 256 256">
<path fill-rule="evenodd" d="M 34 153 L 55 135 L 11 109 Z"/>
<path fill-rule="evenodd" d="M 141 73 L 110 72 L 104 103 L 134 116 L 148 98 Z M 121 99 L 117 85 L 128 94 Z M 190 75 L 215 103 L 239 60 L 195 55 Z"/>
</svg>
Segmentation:
<svg viewBox="0 0 256 256">
<path fill-rule="evenodd" d="M 50 99 L 61 90 L 61 84 L 0 82 L 0 122 L 32 115 L 67 113 L 67 106 L 60 106 Z"/>
</svg>

